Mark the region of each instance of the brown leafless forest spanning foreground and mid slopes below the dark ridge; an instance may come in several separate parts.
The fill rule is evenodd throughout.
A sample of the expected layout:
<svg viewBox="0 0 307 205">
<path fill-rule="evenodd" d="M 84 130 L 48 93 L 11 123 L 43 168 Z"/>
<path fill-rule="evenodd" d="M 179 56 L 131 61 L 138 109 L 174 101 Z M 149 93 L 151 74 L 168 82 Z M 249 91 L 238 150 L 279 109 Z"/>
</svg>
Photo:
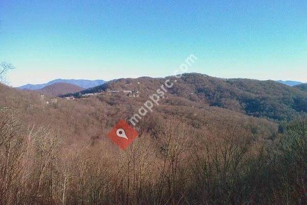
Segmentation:
<svg viewBox="0 0 307 205">
<path fill-rule="evenodd" d="M 0 204 L 303 204 L 303 117 L 278 131 L 267 119 L 199 107 L 210 98 L 180 87 L 120 150 L 106 134 L 143 105 L 153 90 L 147 82 L 161 83 L 121 79 L 109 86 L 134 85 L 143 95 L 51 104 L 53 96 L 0 85 Z"/>
</svg>

